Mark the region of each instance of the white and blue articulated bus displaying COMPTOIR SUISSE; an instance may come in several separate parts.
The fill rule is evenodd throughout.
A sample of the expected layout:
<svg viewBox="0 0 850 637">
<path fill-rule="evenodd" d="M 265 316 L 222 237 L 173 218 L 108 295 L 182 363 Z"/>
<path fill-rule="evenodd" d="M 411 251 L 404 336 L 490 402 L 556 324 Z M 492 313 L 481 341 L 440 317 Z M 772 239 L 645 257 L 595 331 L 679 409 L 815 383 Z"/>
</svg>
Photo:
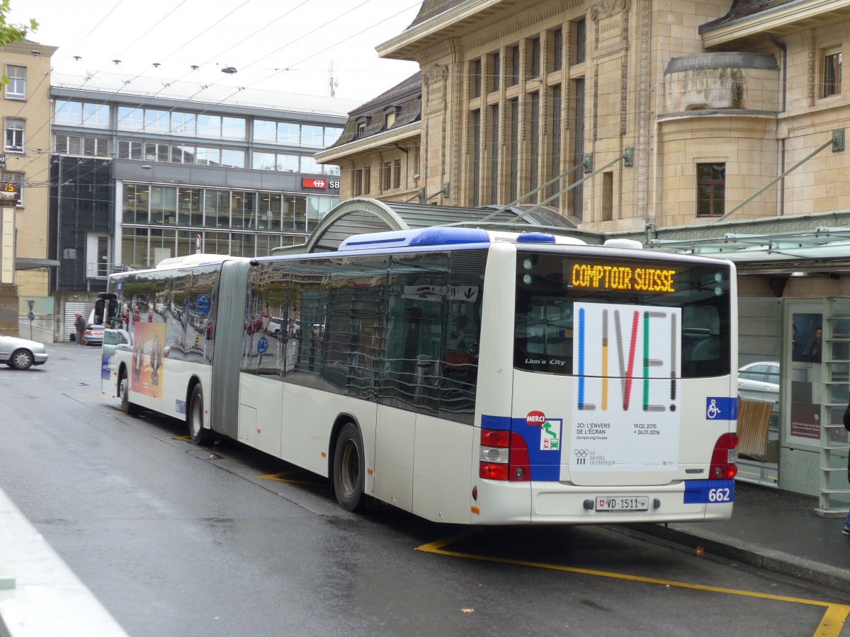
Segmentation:
<svg viewBox="0 0 850 637">
<path fill-rule="evenodd" d="M 325 476 L 347 510 L 726 519 L 734 265 L 640 248 L 449 227 L 169 259 L 111 276 L 103 391 Z"/>
</svg>

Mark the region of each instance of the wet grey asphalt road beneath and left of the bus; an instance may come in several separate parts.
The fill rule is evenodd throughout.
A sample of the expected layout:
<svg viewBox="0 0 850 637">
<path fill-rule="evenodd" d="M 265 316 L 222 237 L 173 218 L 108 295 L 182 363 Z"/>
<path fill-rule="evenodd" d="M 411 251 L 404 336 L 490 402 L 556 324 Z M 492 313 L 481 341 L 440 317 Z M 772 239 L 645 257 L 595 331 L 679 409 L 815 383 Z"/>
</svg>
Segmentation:
<svg viewBox="0 0 850 637">
<path fill-rule="evenodd" d="M 349 514 L 317 476 L 121 414 L 98 348 L 48 347 L 0 366 L 0 489 L 134 636 L 813 635 L 850 604 L 618 527 Z"/>
</svg>

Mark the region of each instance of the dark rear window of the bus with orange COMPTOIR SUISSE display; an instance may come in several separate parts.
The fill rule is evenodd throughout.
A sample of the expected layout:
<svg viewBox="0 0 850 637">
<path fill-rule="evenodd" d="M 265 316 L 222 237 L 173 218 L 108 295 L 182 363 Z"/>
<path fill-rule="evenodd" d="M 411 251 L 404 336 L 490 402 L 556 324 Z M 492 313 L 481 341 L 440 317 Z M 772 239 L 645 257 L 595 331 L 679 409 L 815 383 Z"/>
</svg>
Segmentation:
<svg viewBox="0 0 850 637">
<path fill-rule="evenodd" d="M 629 338 L 619 334 L 615 340 L 615 330 L 622 326 L 613 324 L 614 310 L 678 308 L 680 377 L 730 373 L 729 269 L 722 262 L 715 266 L 645 258 L 602 261 L 520 251 L 516 280 L 513 364 L 518 369 L 574 374 L 579 330 L 575 304 L 599 303 L 612 308 L 606 347 L 625 347 Z"/>
</svg>

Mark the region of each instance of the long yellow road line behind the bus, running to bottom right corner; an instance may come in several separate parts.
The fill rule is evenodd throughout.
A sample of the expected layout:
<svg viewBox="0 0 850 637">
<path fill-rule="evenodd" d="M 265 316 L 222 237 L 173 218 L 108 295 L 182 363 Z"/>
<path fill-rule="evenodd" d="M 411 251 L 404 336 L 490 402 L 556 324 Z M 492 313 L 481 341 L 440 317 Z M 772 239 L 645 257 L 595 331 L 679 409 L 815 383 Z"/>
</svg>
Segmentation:
<svg viewBox="0 0 850 637">
<path fill-rule="evenodd" d="M 458 551 L 453 550 L 445 550 L 443 547 L 448 546 L 449 544 L 453 544 L 461 539 L 468 538 L 472 535 L 471 531 L 466 531 L 464 533 L 458 533 L 457 535 L 452 535 L 449 538 L 439 539 L 436 542 L 431 542 L 429 544 L 422 544 L 422 546 L 417 546 L 416 550 L 421 550 L 425 553 L 433 553 L 436 555 L 449 555 L 450 557 L 462 557 L 467 560 L 477 560 L 477 561 L 492 561 L 499 562 L 501 564 L 511 564 L 513 566 L 518 567 L 533 567 L 533 568 L 545 568 L 550 571 L 562 571 L 562 572 L 575 572 L 581 573 L 582 575 L 593 575 L 598 578 L 612 578 L 612 579 L 626 579 L 632 582 L 643 582 L 643 583 L 653 583 L 659 584 L 661 586 L 675 586 L 680 589 L 691 589 L 691 590 L 705 590 L 711 593 L 723 593 L 723 595 L 743 595 L 745 597 L 757 597 L 762 600 L 775 600 L 775 601 L 790 601 L 794 604 L 806 604 L 808 606 L 823 606 L 826 608 L 826 612 L 824 614 L 823 619 L 821 619 L 820 624 L 818 626 L 817 631 L 814 633 L 814 637 L 838 637 L 838 635 L 842 631 L 842 627 L 844 626 L 844 622 L 847 619 L 847 615 L 850 614 L 850 606 L 844 604 L 833 604 L 828 601 L 819 601 L 819 600 L 803 600 L 799 597 L 787 597 L 785 595 L 769 595 L 768 593 L 757 593 L 751 590 L 737 590 L 737 589 L 724 589 L 719 586 L 706 586 L 705 584 L 694 584 L 688 582 L 677 582 L 672 579 L 655 579 L 655 578 L 644 578 L 640 575 L 626 575 L 624 573 L 617 572 L 608 572 L 608 571 L 596 571 L 591 568 L 579 568 L 579 567 L 562 567 L 557 564 L 547 564 L 545 562 L 536 562 L 536 561 L 524 561 L 524 560 L 512 560 L 507 557 L 490 557 L 488 555 L 473 555 L 472 553 L 460 553 Z"/>
</svg>

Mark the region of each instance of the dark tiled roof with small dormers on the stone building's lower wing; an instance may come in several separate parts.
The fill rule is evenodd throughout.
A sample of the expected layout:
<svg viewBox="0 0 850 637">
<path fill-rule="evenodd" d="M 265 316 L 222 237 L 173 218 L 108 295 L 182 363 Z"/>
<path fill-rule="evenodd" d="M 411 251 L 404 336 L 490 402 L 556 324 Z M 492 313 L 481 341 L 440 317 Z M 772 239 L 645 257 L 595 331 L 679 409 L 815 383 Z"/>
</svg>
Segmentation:
<svg viewBox="0 0 850 637">
<path fill-rule="evenodd" d="M 390 106 L 397 106 L 395 121 L 388 130 L 400 128 L 422 119 L 422 71 L 416 71 L 404 82 L 396 84 L 386 93 L 378 95 L 357 109 L 348 113 L 348 122 L 343 134 L 331 148 L 337 148 L 355 139 L 365 139 L 380 132 L 386 132 L 383 127 L 384 113 Z M 365 133 L 357 134 L 359 121 L 366 118 Z"/>
</svg>

